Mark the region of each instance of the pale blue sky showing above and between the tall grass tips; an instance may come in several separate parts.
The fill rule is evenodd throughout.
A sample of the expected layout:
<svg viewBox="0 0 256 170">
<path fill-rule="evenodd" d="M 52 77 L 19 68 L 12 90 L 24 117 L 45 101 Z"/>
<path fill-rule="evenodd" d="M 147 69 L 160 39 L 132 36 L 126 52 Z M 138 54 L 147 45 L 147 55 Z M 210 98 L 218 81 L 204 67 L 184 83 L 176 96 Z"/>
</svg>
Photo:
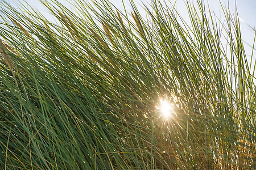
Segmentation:
<svg viewBox="0 0 256 170">
<path fill-rule="evenodd" d="M 90 1 L 90 0 L 89 0 Z M 137 4 L 137 7 L 139 11 L 143 11 L 142 2 L 145 4 L 150 3 L 151 0 L 134 0 L 135 4 Z M 162 0 L 164 1 L 164 0 Z M 172 4 L 175 3 L 175 0 L 166 0 L 167 2 L 170 1 Z M 196 4 L 196 0 L 190 0 L 192 3 Z M 204 0 L 203 0 L 204 1 Z M 6 2 L 10 3 L 12 6 L 16 6 L 17 1 L 16 0 L 6 0 Z M 23 4 L 24 1 L 20 0 Z M 48 14 L 48 11 L 40 4 L 38 0 L 26 0 L 28 4 L 30 4 L 32 7 L 35 7 L 37 10 L 39 10 L 46 18 L 51 18 L 51 15 Z M 65 5 L 68 8 L 72 9 L 72 5 L 70 5 L 65 0 L 60 0 L 63 5 Z M 120 10 L 123 8 L 123 4 L 121 0 L 110 0 L 110 2 L 113 3 L 114 6 L 118 7 Z M 129 0 L 124 0 L 126 10 L 131 11 Z M 222 5 L 227 7 L 229 5 L 230 11 L 233 13 L 238 11 L 238 16 L 240 16 L 240 22 L 241 22 L 241 35 L 244 42 L 246 55 L 251 56 L 251 45 L 253 45 L 254 35 L 255 35 L 255 29 L 252 28 L 256 27 L 256 0 L 205 0 L 205 3 L 209 4 L 209 8 L 211 11 L 216 13 L 217 17 L 221 20 L 224 20 L 224 16 L 221 14 L 221 7 L 220 2 Z M 176 2 L 176 10 L 185 18 L 185 20 L 188 20 L 188 14 L 187 14 L 187 8 L 185 7 L 185 2 L 183 0 L 177 0 Z M 50 19 L 51 20 L 51 19 Z M 252 27 L 252 28 L 251 28 Z M 254 54 L 254 59 L 256 59 L 256 54 Z"/>
</svg>

